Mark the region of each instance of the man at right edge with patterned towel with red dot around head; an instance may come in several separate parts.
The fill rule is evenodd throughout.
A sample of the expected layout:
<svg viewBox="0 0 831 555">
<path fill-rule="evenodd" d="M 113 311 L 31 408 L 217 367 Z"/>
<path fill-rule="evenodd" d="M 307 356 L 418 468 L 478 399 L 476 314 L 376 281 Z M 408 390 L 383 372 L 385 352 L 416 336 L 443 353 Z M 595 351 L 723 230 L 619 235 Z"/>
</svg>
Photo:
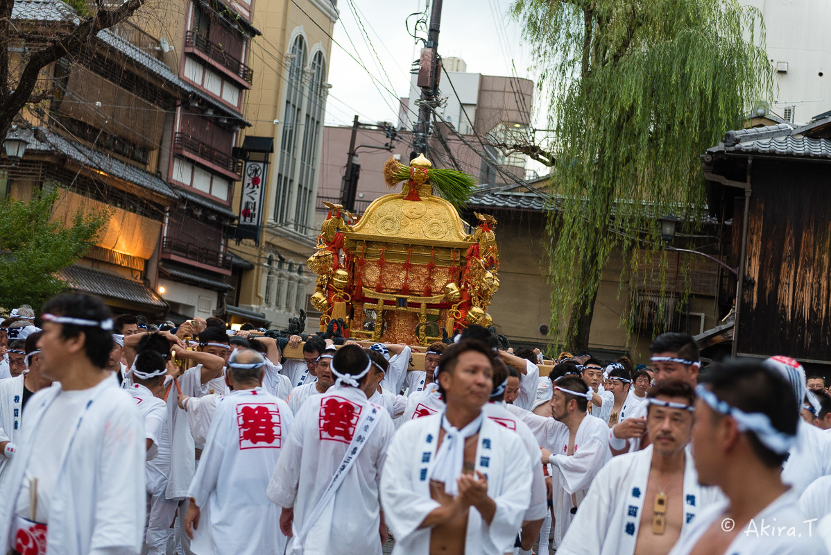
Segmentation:
<svg viewBox="0 0 831 555">
<path fill-rule="evenodd" d="M 772 356 L 765 361 L 765 366 L 779 372 L 793 392 L 799 409 L 808 395 L 805 386 L 805 371 L 799 362 L 787 356 Z M 784 393 L 784 392 L 783 392 Z M 805 488 L 820 476 L 831 474 L 831 435 L 824 433 L 818 427 L 799 419 L 796 441 L 790 449 L 788 459 L 782 465 L 782 481 L 794 489 L 799 495 Z"/>
</svg>

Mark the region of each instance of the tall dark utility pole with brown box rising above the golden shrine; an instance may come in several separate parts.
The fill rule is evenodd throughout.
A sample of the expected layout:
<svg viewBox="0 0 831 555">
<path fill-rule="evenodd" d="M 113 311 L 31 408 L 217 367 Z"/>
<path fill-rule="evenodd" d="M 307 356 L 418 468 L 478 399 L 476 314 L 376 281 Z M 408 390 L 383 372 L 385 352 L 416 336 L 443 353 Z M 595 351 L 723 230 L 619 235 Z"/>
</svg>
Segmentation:
<svg viewBox="0 0 831 555">
<path fill-rule="evenodd" d="M 440 23 L 441 0 L 433 0 L 427 44 L 421 50 L 419 61 L 418 86 L 421 89 L 421 98 L 418 121 L 416 121 L 416 128 L 413 130 L 411 159 L 427 151 L 427 139 L 430 137 L 430 120 L 433 113 L 431 105 L 435 106 L 435 99 L 439 96 L 439 78 L 441 76 L 441 61 L 438 54 Z"/>
</svg>

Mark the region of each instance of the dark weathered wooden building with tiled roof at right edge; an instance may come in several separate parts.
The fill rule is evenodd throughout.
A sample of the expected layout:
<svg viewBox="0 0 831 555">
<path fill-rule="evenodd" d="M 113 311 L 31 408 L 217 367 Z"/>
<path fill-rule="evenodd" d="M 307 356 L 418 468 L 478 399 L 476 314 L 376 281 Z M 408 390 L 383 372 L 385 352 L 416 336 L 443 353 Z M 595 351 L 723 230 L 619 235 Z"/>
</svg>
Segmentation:
<svg viewBox="0 0 831 555">
<path fill-rule="evenodd" d="M 703 346 L 831 369 L 829 139 L 826 116 L 795 128 L 728 131 L 701 157 L 711 215 L 732 223 L 725 254 L 739 278 L 719 293 L 735 298 L 735 327 L 702 337 Z"/>
</svg>

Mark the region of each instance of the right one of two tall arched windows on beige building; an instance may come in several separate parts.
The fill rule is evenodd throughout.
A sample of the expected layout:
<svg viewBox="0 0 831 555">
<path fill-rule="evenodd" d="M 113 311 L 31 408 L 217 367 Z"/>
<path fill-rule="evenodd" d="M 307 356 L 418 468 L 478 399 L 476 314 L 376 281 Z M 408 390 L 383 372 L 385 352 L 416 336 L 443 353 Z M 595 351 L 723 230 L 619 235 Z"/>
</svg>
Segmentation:
<svg viewBox="0 0 831 555">
<path fill-rule="evenodd" d="M 295 228 L 301 233 L 305 231 L 311 212 L 310 200 L 317 166 L 317 141 L 320 138 L 323 108 L 326 103 L 326 61 L 323 60 L 323 52 L 317 51 L 309 70 L 311 78 L 300 152 L 300 176 L 297 179 L 297 205 L 294 211 Z"/>
</svg>

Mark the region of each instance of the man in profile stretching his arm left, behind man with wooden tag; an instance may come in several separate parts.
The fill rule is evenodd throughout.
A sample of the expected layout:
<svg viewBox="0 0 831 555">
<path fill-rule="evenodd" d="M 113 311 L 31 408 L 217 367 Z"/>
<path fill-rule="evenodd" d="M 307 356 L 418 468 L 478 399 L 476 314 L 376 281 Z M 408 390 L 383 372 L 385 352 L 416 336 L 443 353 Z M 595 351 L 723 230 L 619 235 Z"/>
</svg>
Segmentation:
<svg viewBox="0 0 831 555">
<path fill-rule="evenodd" d="M 519 408 L 509 410 L 528 425 L 543 445 L 543 464 L 553 466 L 554 548 L 558 548 L 568 526 L 588 493 L 597 472 L 611 458 L 609 428 L 586 412 L 592 390 L 578 376 L 563 376 L 554 382 L 551 414 L 545 418 Z"/>
</svg>

